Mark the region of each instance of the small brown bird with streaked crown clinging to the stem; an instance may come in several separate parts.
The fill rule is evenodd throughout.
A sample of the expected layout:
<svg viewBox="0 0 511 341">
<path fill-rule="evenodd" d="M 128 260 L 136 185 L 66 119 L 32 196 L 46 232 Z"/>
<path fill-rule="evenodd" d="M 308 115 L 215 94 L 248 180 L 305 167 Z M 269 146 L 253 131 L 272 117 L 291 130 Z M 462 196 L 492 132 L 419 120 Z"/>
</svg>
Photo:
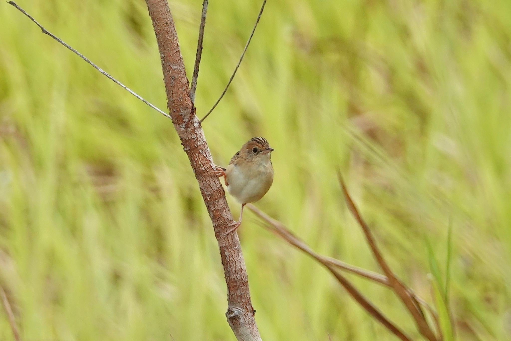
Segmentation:
<svg viewBox="0 0 511 341">
<path fill-rule="evenodd" d="M 270 189 L 273 183 L 272 151 L 265 138 L 252 138 L 234 154 L 227 168 L 216 166 L 213 171 L 218 177 L 224 177 L 227 191 L 241 203 L 240 219 L 226 234 L 239 228 L 245 204 L 258 201 Z"/>
</svg>

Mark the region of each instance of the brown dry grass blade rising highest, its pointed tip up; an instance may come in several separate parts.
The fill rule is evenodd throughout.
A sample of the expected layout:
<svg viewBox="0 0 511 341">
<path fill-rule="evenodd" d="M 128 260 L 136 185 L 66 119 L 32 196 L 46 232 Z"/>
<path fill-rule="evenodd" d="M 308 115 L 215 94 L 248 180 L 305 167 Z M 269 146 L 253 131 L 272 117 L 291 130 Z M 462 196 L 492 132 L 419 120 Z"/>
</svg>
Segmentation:
<svg viewBox="0 0 511 341">
<path fill-rule="evenodd" d="M 428 340 L 430 341 L 437 341 L 436 336 L 434 335 L 433 331 L 428 325 L 428 322 L 426 321 L 424 314 L 422 313 L 420 307 L 418 307 L 413 298 L 410 294 L 410 289 L 407 288 L 392 272 L 390 267 L 388 266 L 387 262 L 383 258 L 382 253 L 380 252 L 380 249 L 376 245 L 376 240 L 369 230 L 369 226 L 364 221 L 362 216 L 360 215 L 357 207 L 355 206 L 355 203 L 353 202 L 350 194 L 348 193 L 346 189 L 346 185 L 344 184 L 344 180 L 342 179 L 342 176 L 340 173 L 337 174 L 339 178 L 339 182 L 342 187 L 342 192 L 344 194 L 344 198 L 346 200 L 346 204 L 350 212 L 353 214 L 357 222 L 359 223 L 360 227 L 362 228 L 362 231 L 365 234 L 365 237 L 367 239 L 367 243 L 369 244 L 369 247 L 371 248 L 371 251 L 373 252 L 373 255 L 375 256 L 378 264 L 382 268 L 383 272 L 387 276 L 390 285 L 394 289 L 394 292 L 398 295 L 398 297 L 401 299 L 401 301 L 405 304 L 408 311 L 410 311 L 410 314 L 413 317 L 413 320 L 415 321 L 415 324 L 417 326 L 417 329 L 421 332 L 422 335 L 424 335 Z"/>
</svg>

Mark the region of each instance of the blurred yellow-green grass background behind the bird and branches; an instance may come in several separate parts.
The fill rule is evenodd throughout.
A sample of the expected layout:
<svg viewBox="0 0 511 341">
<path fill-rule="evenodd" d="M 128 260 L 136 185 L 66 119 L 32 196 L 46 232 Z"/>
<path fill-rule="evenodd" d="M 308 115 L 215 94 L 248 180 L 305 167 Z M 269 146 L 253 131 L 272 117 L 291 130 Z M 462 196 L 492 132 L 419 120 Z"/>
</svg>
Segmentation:
<svg viewBox="0 0 511 341">
<path fill-rule="evenodd" d="M 189 77 L 201 3 L 171 1 Z M 18 4 L 166 108 L 143 1 Z M 260 5 L 210 3 L 199 117 Z M 340 169 L 393 268 L 430 302 L 433 259 L 446 280 L 451 226 L 457 339 L 508 340 L 510 20 L 508 0 L 270 0 L 203 123 L 215 160 L 266 137 L 275 180 L 257 206 L 317 251 L 378 270 L 345 208 Z M 0 22 L 0 281 L 22 336 L 234 340 L 211 221 L 171 122 L 6 3 Z M 263 339 L 394 339 L 256 220 L 247 211 L 239 234 Z M 389 290 L 352 279 L 420 339 Z M 11 337 L 2 313 L 0 339 Z"/>
</svg>

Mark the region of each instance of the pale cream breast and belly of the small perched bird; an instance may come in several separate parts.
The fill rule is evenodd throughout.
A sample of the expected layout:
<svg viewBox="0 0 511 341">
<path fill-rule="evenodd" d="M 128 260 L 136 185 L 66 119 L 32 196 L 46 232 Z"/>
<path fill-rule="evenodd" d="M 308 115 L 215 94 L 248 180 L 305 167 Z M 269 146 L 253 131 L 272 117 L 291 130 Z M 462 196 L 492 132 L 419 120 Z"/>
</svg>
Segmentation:
<svg viewBox="0 0 511 341">
<path fill-rule="evenodd" d="M 227 167 L 227 190 L 240 203 L 255 202 L 261 199 L 273 183 L 273 168 L 268 166 L 240 167 L 231 164 Z"/>
</svg>

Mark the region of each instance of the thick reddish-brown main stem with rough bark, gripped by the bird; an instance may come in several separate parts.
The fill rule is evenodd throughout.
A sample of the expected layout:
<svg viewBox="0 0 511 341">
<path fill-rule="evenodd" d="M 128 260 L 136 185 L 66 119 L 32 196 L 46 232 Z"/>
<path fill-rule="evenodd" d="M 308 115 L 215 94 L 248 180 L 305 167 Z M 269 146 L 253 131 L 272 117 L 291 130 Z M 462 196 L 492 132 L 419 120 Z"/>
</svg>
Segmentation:
<svg viewBox="0 0 511 341">
<path fill-rule="evenodd" d="M 227 321 L 238 340 L 261 341 L 250 301 L 240 240 L 236 233 L 226 234 L 233 223 L 233 217 L 220 180 L 212 172 L 215 164 L 204 131 L 194 115 L 195 109 L 169 5 L 167 0 L 146 0 L 146 3 L 158 42 L 172 122 L 189 157 L 218 240 L 227 284 Z"/>
</svg>

